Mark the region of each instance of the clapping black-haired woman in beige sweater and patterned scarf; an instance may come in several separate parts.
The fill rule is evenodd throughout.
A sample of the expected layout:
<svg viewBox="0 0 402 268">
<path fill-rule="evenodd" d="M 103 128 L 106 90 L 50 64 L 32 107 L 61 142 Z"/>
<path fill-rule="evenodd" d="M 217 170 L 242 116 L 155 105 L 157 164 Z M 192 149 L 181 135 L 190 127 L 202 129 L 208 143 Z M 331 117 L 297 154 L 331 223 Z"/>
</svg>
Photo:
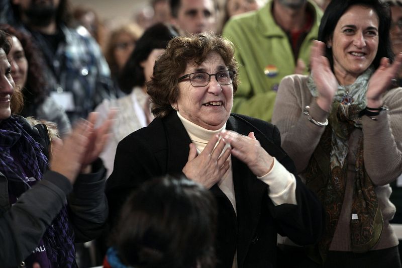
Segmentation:
<svg viewBox="0 0 402 268">
<path fill-rule="evenodd" d="M 283 78 L 272 122 L 326 211 L 311 257 L 324 267 L 400 267 L 389 183 L 402 172 L 402 64 L 380 0 L 332 1 L 311 75 Z M 392 62 L 392 63 L 391 63 Z"/>
</svg>

